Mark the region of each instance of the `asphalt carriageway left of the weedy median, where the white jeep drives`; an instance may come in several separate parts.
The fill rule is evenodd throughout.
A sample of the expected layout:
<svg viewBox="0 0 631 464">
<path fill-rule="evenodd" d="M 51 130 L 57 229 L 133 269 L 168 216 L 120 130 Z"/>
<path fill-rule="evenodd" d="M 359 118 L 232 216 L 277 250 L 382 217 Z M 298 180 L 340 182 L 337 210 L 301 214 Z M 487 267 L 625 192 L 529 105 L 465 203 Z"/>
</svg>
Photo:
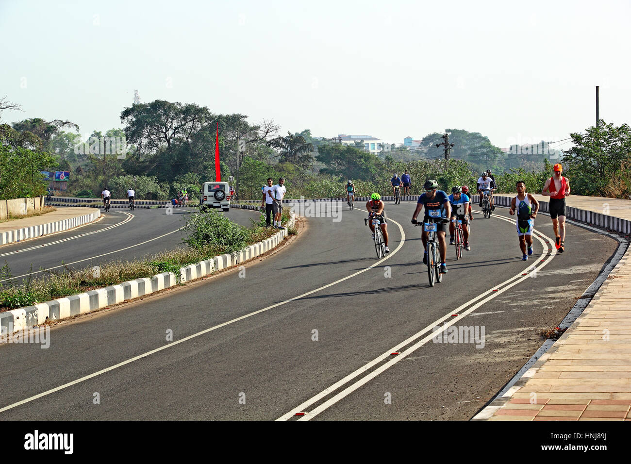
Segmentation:
<svg viewBox="0 0 631 464">
<path fill-rule="evenodd" d="M 58 207 L 59 208 L 59 207 Z M 70 268 L 88 268 L 105 261 L 130 260 L 182 246 L 187 210 L 166 209 L 110 210 L 101 220 L 79 229 L 0 247 L 0 263 L 6 261 L 11 274 L 24 277 L 33 266 L 33 273 L 47 275 L 40 269 L 63 270 L 61 262 Z M 231 220 L 251 226 L 257 213 L 232 209 L 225 213 Z M 76 238 L 73 238 L 76 237 Z M 19 253 L 16 253 L 19 252 Z M 0 280 L 0 283 L 3 282 Z"/>
</svg>

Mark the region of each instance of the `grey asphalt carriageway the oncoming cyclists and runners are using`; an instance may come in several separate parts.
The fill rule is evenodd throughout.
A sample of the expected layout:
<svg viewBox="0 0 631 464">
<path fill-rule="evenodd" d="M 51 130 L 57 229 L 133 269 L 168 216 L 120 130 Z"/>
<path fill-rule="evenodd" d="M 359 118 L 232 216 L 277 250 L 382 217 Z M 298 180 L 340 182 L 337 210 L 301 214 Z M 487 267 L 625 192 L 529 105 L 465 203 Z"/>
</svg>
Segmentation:
<svg viewBox="0 0 631 464">
<path fill-rule="evenodd" d="M 245 277 L 228 271 L 60 324 L 50 331 L 48 349 L 0 347 L 0 419 L 278 419 L 443 316 L 449 320 L 461 304 L 540 264 L 538 241 L 524 263 L 514 223 L 477 215 L 473 249 L 459 262 L 449 249 L 449 273 L 430 288 L 419 263 L 420 228 L 410 224 L 413 208 L 387 204 L 404 241 L 391 222 L 392 253 L 372 268 L 377 259 L 365 213 L 345 210 L 338 223 L 306 220 L 295 242 L 246 265 Z M 504 208 L 496 213 L 507 216 Z M 536 228 L 553 235 L 549 217 L 541 215 Z M 483 348 L 430 340 L 339 395 L 315 419 L 470 419 L 540 347 L 536 331 L 561 321 L 616 247 L 609 237 L 573 226 L 566 243 L 566 253 L 536 277 L 457 323 L 485 328 Z M 550 256 L 547 249 L 545 254 Z M 169 331 L 173 342 L 166 340 Z M 191 338 L 182 342 L 185 337 Z M 119 363 L 126 364 L 94 376 Z M 84 376 L 89 378 L 2 411 Z M 304 410 L 313 411 L 343 388 Z"/>
</svg>

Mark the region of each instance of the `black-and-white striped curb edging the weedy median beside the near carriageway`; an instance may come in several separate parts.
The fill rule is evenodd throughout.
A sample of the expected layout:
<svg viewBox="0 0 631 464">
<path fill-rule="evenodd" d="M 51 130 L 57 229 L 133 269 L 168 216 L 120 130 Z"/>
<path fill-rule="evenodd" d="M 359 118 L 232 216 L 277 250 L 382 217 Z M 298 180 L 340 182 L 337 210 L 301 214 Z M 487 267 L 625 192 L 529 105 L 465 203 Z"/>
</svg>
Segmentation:
<svg viewBox="0 0 631 464">
<path fill-rule="evenodd" d="M 251 205 L 236 207 L 256 210 L 256 207 Z M 127 282 L 103 289 L 90 290 L 79 295 L 57 298 L 33 306 L 0 312 L 0 330 L 3 335 L 6 335 L 43 324 L 47 319 L 58 321 L 72 318 L 73 316 L 122 303 L 124 300 L 150 295 L 160 290 L 174 287 L 178 283 L 185 283 L 204 277 L 215 271 L 240 265 L 278 246 L 288 235 L 288 228 L 295 227 L 295 220 L 296 215 L 292 213 L 290 220 L 285 225 L 286 229 L 279 230 L 269 239 L 249 245 L 239 253 L 221 254 L 212 259 L 183 266 L 180 268 L 179 276 L 177 277 L 172 272 L 164 272 L 150 278 L 128 280 Z"/>
</svg>

